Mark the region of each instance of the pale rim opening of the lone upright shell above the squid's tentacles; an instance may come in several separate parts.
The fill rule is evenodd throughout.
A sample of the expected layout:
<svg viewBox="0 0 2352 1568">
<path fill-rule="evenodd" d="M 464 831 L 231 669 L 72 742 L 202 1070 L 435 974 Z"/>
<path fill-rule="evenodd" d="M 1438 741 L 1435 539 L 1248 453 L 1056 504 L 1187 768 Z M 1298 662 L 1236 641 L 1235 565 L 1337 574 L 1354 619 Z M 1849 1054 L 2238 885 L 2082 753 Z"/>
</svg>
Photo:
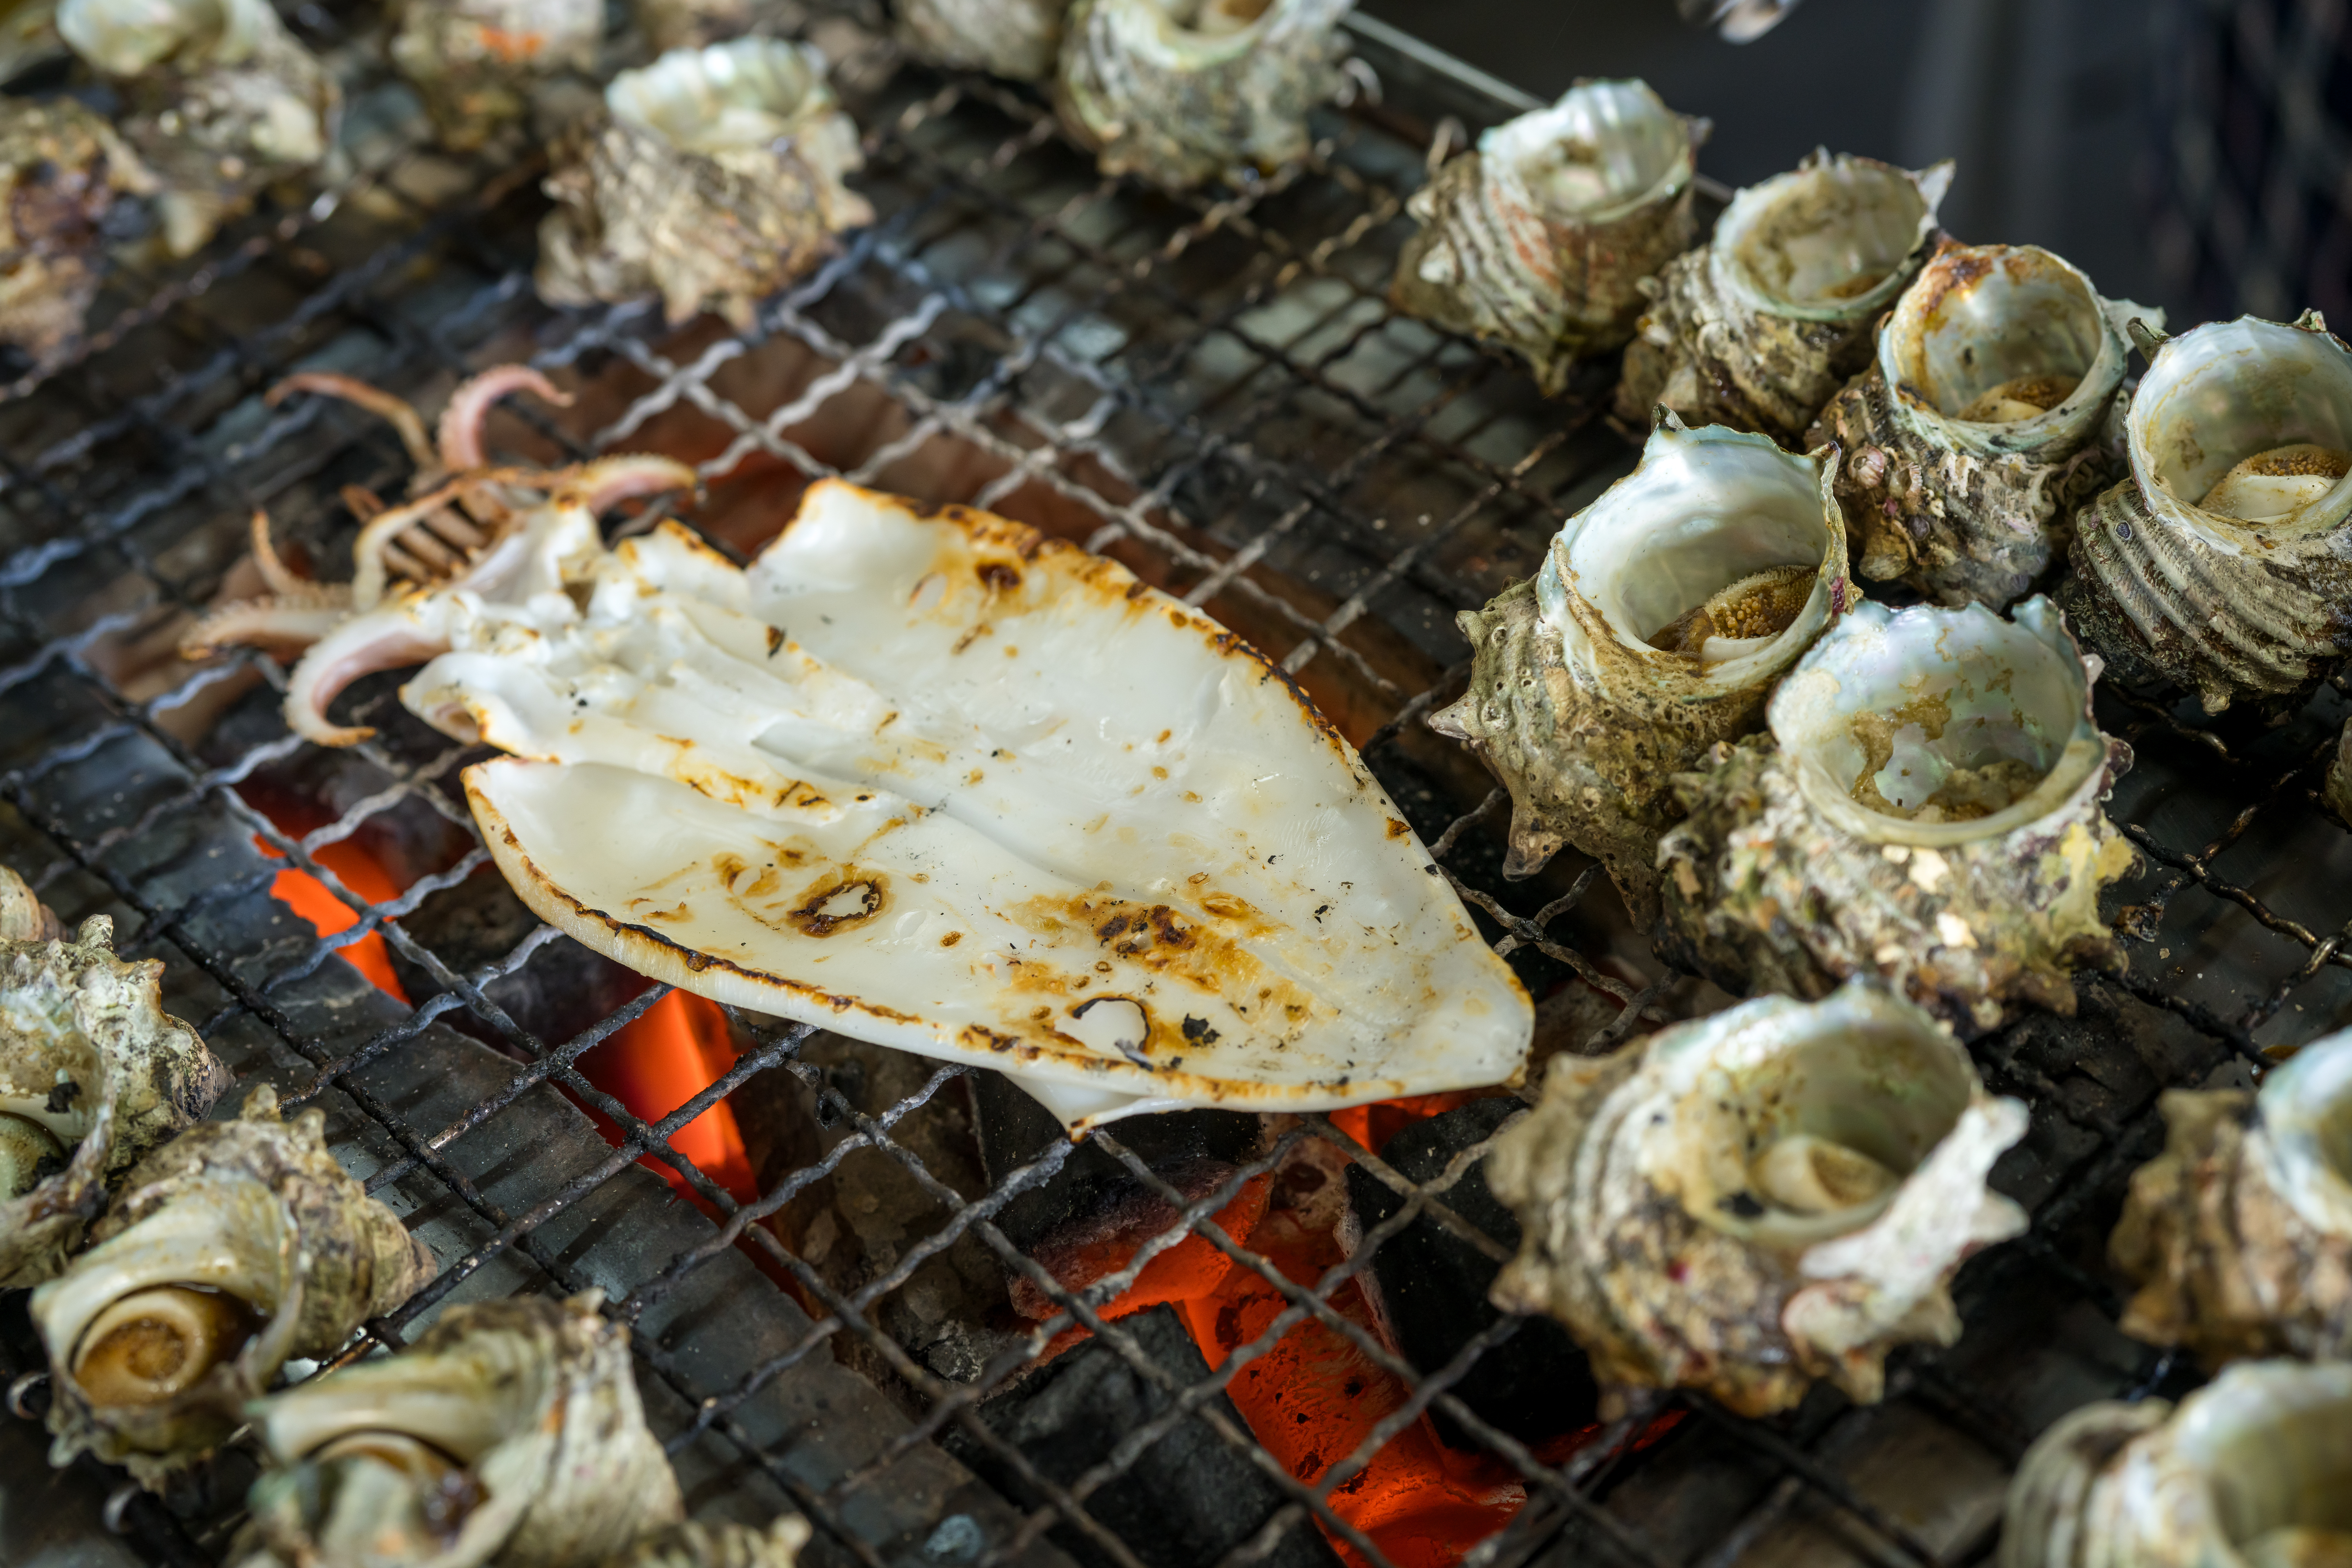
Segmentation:
<svg viewBox="0 0 2352 1568">
<path fill-rule="evenodd" d="M 821 68 L 795 45 L 739 38 L 708 49 L 670 49 L 604 89 L 616 120 L 654 132 L 687 153 L 769 146 L 790 136 L 833 94 Z"/>
</svg>

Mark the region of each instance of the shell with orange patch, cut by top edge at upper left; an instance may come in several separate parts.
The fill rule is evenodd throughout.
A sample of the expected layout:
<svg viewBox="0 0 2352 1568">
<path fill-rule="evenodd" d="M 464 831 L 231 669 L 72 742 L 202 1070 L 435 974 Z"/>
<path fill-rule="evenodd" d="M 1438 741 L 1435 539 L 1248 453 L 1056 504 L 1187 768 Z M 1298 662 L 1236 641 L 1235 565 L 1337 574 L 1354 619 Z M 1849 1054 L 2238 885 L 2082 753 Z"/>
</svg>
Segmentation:
<svg viewBox="0 0 2352 1568">
<path fill-rule="evenodd" d="M 470 150 L 529 113 L 536 82 L 595 71 L 600 0 L 402 0 L 393 66 L 449 148 Z"/>
</svg>

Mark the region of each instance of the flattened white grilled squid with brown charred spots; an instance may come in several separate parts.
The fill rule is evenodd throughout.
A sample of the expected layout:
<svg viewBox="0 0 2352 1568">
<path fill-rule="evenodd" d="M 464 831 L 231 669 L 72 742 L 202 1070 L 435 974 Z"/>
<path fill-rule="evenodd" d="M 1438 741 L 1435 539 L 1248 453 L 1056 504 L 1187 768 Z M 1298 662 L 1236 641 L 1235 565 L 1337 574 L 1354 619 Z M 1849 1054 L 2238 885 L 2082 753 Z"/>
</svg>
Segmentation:
<svg viewBox="0 0 2352 1568">
<path fill-rule="evenodd" d="M 670 985 L 1011 1074 L 1068 1124 L 1512 1079 L 1526 992 L 1305 696 L 1124 567 L 840 482 L 748 569 L 529 517 L 499 583 L 315 644 L 402 703 L 522 900 Z M 612 835 L 612 823 L 644 832 Z"/>
</svg>

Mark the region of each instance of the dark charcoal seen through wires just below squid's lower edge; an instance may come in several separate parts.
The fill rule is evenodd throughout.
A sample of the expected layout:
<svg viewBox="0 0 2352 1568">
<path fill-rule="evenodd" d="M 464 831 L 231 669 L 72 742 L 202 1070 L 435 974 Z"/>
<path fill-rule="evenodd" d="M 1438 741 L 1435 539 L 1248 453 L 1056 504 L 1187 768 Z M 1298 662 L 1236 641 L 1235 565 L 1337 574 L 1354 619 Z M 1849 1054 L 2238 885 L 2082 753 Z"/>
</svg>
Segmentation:
<svg viewBox="0 0 2352 1568">
<path fill-rule="evenodd" d="M 1061 1121 L 1011 1079 L 974 1072 L 969 1081 L 990 1185 L 1065 1135 Z M 1265 1140 L 1258 1117 L 1232 1110 L 1129 1117 L 1110 1133 L 1185 1199 L 1216 1190 L 1254 1159 Z M 1030 1187 L 997 1215 L 1007 1239 L 1073 1291 L 1124 1269 L 1143 1241 L 1174 1222 L 1176 1211 L 1169 1201 L 1094 1143 L 1073 1150 L 1051 1180 Z M 1011 1295 L 1025 1316 L 1054 1314 L 1054 1302 L 1028 1279 L 1014 1279 Z"/>
</svg>

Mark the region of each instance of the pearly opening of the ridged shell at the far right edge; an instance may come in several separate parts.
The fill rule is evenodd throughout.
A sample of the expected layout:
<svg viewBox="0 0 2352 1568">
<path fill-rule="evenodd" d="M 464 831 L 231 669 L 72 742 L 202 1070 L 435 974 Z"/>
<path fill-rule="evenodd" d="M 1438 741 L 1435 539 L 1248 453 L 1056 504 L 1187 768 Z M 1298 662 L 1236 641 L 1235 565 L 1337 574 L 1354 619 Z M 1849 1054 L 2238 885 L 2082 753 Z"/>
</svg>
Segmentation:
<svg viewBox="0 0 2352 1568">
<path fill-rule="evenodd" d="M 2126 430 L 2133 473 L 2178 505 L 2267 524 L 2352 512 L 2352 353 L 2326 331 L 2256 317 L 2183 331 Z"/>
</svg>

